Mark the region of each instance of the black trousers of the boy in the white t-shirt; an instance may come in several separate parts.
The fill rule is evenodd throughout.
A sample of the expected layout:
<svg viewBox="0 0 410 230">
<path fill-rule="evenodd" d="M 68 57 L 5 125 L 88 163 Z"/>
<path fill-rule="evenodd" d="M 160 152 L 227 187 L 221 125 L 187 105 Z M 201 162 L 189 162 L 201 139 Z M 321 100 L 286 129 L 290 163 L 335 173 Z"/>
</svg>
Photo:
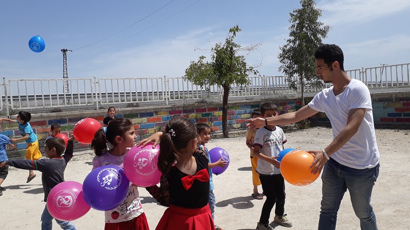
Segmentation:
<svg viewBox="0 0 410 230">
<path fill-rule="evenodd" d="M 285 211 L 285 181 L 282 174 L 259 174 L 259 179 L 266 196 L 266 200 L 262 206 L 259 223 L 269 224 L 269 217 L 271 216 L 271 211 L 275 203 L 276 215 L 282 216 Z"/>
</svg>

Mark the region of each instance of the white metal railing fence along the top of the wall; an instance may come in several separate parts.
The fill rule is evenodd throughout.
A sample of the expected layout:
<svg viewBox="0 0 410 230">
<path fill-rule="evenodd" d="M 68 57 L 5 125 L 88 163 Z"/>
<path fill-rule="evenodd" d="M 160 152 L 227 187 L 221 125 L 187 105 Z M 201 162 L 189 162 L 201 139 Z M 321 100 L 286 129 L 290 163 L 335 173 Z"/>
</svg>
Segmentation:
<svg viewBox="0 0 410 230">
<path fill-rule="evenodd" d="M 410 63 L 385 65 L 346 71 L 351 78 L 369 88 L 410 87 Z M 71 106 L 118 105 L 129 103 L 163 103 L 180 100 L 222 100 L 223 89 L 217 85 L 206 88 L 182 78 L 68 78 L 9 79 L 0 84 L 0 108 L 9 116 L 10 108 L 45 109 Z M 318 92 L 330 87 L 306 85 L 304 92 Z M 249 97 L 298 94 L 289 88 L 284 76 L 251 76 L 249 85 L 231 85 L 230 100 Z"/>
</svg>

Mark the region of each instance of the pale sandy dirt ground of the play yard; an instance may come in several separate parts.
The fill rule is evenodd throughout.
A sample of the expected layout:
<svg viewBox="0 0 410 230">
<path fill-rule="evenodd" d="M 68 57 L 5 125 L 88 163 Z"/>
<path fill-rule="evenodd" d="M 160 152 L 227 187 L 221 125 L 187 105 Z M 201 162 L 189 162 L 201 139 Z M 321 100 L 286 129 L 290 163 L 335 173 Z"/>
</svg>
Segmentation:
<svg viewBox="0 0 410 230">
<path fill-rule="evenodd" d="M 409 130 L 376 129 L 380 151 L 380 175 L 373 189 L 372 205 L 379 229 L 410 229 L 410 149 Z M 308 130 L 285 132 L 288 143 L 285 148 L 320 150 L 332 140 L 330 128 L 314 127 Z M 255 229 L 262 210 L 263 200 L 251 197 L 252 177 L 249 149 L 245 137 L 211 140 L 207 146 L 222 147 L 230 154 L 226 172 L 215 176 L 215 222 L 224 229 Z M 85 153 L 85 154 L 84 154 Z M 91 171 L 93 156 L 90 151 L 74 155 L 65 172 L 66 180 L 83 183 Z M 40 175 L 40 172 L 37 172 Z M 7 191 L 0 196 L 0 229 L 40 229 L 43 212 L 43 188 L 41 177 L 26 183 L 27 171 L 11 168 L 3 187 Z M 316 229 L 321 200 L 320 178 L 311 185 L 297 187 L 286 182 L 285 213 L 293 222 L 293 229 Z M 261 192 L 261 188 L 259 187 Z M 165 207 L 144 189 L 139 189 L 142 206 L 151 229 L 155 229 Z M 274 212 L 272 212 L 274 213 Z M 345 194 L 338 213 L 336 229 L 360 229 L 348 193 Z M 273 214 L 274 215 L 274 214 Z M 273 221 L 271 215 L 270 221 Z M 73 221 L 77 229 L 103 229 L 104 213 L 91 209 L 85 216 Z M 272 222 L 275 229 L 285 229 Z M 60 229 L 53 222 L 53 229 Z"/>
</svg>

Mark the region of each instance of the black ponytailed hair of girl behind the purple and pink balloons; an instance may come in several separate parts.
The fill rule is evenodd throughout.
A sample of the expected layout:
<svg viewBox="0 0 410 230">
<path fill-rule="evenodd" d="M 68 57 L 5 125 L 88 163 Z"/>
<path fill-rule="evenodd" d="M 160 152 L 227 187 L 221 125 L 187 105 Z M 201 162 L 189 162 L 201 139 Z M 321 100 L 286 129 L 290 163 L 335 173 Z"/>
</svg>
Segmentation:
<svg viewBox="0 0 410 230">
<path fill-rule="evenodd" d="M 91 149 L 94 149 L 95 155 L 99 156 L 101 153 L 107 151 L 107 142 L 116 146 L 116 136 L 124 136 L 124 133 L 133 127 L 132 122 L 126 118 L 118 118 L 111 120 L 107 125 L 107 133 L 104 129 L 98 129 L 91 141 Z"/>
</svg>

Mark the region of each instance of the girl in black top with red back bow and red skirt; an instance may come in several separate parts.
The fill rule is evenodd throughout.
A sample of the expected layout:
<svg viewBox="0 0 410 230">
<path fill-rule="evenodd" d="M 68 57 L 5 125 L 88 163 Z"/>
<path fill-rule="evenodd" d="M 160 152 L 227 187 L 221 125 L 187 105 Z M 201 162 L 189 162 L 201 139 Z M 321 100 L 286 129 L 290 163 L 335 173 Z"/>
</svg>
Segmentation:
<svg viewBox="0 0 410 230">
<path fill-rule="evenodd" d="M 162 173 L 161 188 L 153 186 L 147 190 L 169 208 L 155 229 L 214 230 L 208 204 L 208 158 L 206 153 L 197 149 L 194 123 L 174 117 L 160 134 L 158 169 Z"/>
</svg>

